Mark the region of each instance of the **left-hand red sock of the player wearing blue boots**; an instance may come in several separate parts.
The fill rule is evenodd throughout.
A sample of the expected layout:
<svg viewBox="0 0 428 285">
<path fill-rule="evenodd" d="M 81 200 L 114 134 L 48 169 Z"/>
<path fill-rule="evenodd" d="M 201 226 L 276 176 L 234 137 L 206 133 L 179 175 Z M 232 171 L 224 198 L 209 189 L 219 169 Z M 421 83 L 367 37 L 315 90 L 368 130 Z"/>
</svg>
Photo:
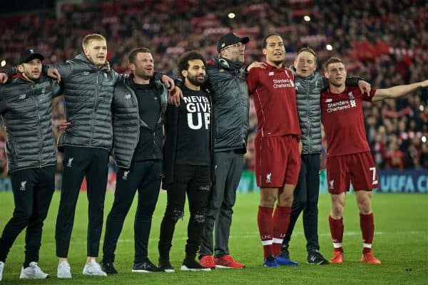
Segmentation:
<svg viewBox="0 0 428 285">
<path fill-rule="evenodd" d="M 257 213 L 257 223 L 260 232 L 260 239 L 263 244 L 263 252 L 265 253 L 265 258 L 273 255 L 272 252 L 272 233 L 273 233 L 273 223 L 272 223 L 272 212 L 273 208 L 259 206 Z"/>
</svg>

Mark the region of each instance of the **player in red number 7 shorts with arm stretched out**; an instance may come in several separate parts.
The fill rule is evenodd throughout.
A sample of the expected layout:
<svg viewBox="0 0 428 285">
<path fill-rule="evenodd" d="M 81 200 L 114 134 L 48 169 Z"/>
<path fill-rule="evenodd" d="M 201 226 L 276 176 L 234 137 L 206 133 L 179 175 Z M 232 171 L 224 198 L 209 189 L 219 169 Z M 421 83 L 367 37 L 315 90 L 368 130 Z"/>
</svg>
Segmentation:
<svg viewBox="0 0 428 285">
<path fill-rule="evenodd" d="M 366 139 L 362 101 L 376 102 L 426 88 L 428 81 L 387 89 L 372 89 L 362 93 L 358 87 L 345 86 L 346 68 L 340 58 L 330 58 L 325 64 L 325 77 L 330 81 L 328 90 L 321 93 L 322 123 L 327 137 L 327 183 L 332 199 L 329 217 L 334 253 L 331 263 L 343 262 L 343 221 L 345 193 L 354 187 L 360 210 L 363 250 L 361 261 L 380 264 L 371 252 L 374 237 L 372 189 L 377 188 L 376 174 L 370 147 Z"/>
</svg>

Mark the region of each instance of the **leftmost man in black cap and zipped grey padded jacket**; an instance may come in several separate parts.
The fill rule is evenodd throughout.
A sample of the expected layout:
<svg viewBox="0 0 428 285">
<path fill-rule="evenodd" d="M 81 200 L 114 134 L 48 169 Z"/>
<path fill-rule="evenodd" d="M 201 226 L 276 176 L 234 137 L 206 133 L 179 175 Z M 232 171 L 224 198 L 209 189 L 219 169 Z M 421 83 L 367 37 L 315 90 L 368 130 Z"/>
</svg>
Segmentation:
<svg viewBox="0 0 428 285">
<path fill-rule="evenodd" d="M 25 228 L 25 261 L 19 278 L 49 277 L 37 263 L 43 222 L 55 186 L 51 105 L 61 88 L 42 75 L 43 60 L 33 48 L 24 50 L 18 77 L 0 85 L 0 115 L 7 132 L 6 156 L 15 203 L 14 215 L 0 237 L 0 280 L 9 249 Z"/>
</svg>

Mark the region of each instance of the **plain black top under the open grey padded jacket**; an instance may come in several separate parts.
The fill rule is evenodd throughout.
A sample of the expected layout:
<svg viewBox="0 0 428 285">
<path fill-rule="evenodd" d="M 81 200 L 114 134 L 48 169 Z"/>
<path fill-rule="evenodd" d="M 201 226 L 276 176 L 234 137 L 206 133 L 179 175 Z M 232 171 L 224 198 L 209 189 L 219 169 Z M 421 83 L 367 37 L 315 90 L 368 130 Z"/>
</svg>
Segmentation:
<svg viewBox="0 0 428 285">
<path fill-rule="evenodd" d="M 162 159 L 162 128 L 158 128 L 161 116 L 161 94 L 152 83 L 134 83 L 134 91 L 138 100 L 140 120 L 147 124 L 141 125 L 140 138 L 133 159 L 161 160 Z M 156 129 L 156 130 L 155 130 Z"/>
</svg>

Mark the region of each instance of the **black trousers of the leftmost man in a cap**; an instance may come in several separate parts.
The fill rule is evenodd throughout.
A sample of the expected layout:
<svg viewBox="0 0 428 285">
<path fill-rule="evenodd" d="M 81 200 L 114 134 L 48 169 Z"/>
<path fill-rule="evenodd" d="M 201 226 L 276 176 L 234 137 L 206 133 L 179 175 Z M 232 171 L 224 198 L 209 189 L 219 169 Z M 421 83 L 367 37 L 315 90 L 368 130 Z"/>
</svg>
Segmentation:
<svg viewBox="0 0 428 285">
<path fill-rule="evenodd" d="M 46 166 L 11 172 L 15 209 L 1 234 L 0 261 L 6 261 L 16 237 L 25 228 L 25 267 L 31 261 L 39 261 L 43 222 L 54 195 L 55 168 Z"/>
</svg>

